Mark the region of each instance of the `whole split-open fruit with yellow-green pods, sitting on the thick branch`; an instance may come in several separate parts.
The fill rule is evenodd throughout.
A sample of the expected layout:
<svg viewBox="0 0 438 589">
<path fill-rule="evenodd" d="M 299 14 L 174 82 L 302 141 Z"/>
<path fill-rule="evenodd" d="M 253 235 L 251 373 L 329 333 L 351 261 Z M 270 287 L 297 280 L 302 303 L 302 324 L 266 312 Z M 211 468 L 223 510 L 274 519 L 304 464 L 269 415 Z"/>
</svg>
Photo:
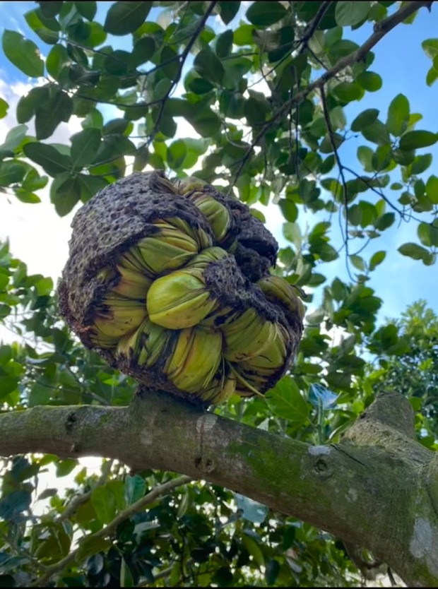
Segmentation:
<svg viewBox="0 0 438 589">
<path fill-rule="evenodd" d="M 109 364 L 195 403 L 263 394 L 290 367 L 299 292 L 247 206 L 189 178 L 133 174 L 73 220 L 61 311 Z"/>
</svg>

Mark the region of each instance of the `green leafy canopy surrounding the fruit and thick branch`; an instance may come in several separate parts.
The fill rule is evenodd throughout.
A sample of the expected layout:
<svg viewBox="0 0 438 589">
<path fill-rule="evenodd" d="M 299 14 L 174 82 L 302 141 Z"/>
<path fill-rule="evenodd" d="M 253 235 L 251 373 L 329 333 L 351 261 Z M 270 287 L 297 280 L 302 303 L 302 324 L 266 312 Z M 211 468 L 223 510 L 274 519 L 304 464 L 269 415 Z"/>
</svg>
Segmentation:
<svg viewBox="0 0 438 589">
<path fill-rule="evenodd" d="M 377 326 L 381 299 L 367 281 L 387 252 L 362 253 L 396 220 L 415 218 L 418 241 L 399 251 L 435 262 L 438 177 L 428 148 L 438 134 L 422 128 L 401 93 L 386 113 L 367 102 L 384 82 L 372 71 L 373 47 L 401 23 L 415 26 L 416 12 L 432 3 L 36 4 L 25 14 L 29 38 L 15 30 L 2 37 L 8 60 L 37 80 L 0 145 L 1 191 L 39 203 L 49 186 L 62 216 L 132 170 L 163 169 L 206 180 L 249 206 L 278 204 L 288 246 L 273 272 L 304 288 L 308 302 L 321 290 L 321 307 L 307 316 L 293 377 L 266 401 L 233 397 L 215 412 L 329 444 L 375 393 L 402 388 L 418 439 L 437 450 L 438 319 L 420 302 Z M 353 40 L 356 30 L 369 31 L 364 43 Z M 438 39 L 422 47 L 432 85 Z M 362 99 L 365 108 L 349 121 L 348 105 Z M 0 99 L 0 116 L 7 110 Z M 82 130 L 69 144 L 51 142 L 72 117 Z M 343 148 L 357 136 L 353 168 Z M 331 237 L 336 218 L 339 243 Z M 339 256 L 350 281 L 327 284 L 324 265 Z M 134 381 L 78 343 L 59 319 L 52 280 L 29 275 L 7 243 L 0 319 L 20 340 L 0 345 L 2 411 L 129 404 Z M 342 336 L 333 340 L 331 328 Z M 74 472 L 74 480 L 64 492 L 41 491 L 48 469 L 61 479 Z M 104 460 L 99 476 L 54 455 L 5 460 L 0 583 L 355 586 L 356 565 L 362 574 L 370 568 L 369 555 L 353 564 L 341 539 L 307 523 L 215 485 L 183 483 L 169 472 L 129 473 L 115 460 Z M 39 502 L 46 508 L 38 511 Z"/>
</svg>

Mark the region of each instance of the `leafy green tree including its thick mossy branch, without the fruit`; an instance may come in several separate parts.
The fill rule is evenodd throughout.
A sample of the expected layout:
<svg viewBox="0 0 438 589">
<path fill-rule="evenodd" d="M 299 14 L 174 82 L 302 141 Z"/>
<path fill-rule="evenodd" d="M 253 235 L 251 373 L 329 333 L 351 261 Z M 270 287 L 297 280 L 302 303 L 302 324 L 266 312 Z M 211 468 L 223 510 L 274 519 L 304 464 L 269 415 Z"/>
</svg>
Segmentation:
<svg viewBox="0 0 438 589">
<path fill-rule="evenodd" d="M 289 244 L 273 271 L 309 303 L 339 256 L 350 278 L 321 289 L 293 377 L 203 414 L 160 394 L 132 400 L 134 381 L 61 321 L 52 280 L 3 244 L 0 314 L 20 343 L 0 346 L 1 583 L 353 586 L 385 562 L 436 586 L 437 319 L 419 303 L 378 328 L 367 282 L 386 251 L 360 253 L 415 219 L 419 242 L 399 251 L 434 263 L 438 180 L 418 150 L 438 136 L 417 129 L 403 94 L 386 117 L 370 101 L 348 122 L 382 83 L 372 49 L 431 5 L 143 1 L 102 14 L 52 1 L 25 15 L 33 40 L 4 32 L 6 57 L 37 78 L 0 145 L 7 194 L 37 203 L 50 177 L 66 215 L 133 169 L 190 170 L 249 205 L 278 203 Z M 422 47 L 432 85 L 438 40 Z M 82 131 L 51 143 L 73 115 Z M 76 468 L 90 455 L 105 457 L 99 476 Z M 41 490 L 47 469 L 74 480 Z"/>
</svg>

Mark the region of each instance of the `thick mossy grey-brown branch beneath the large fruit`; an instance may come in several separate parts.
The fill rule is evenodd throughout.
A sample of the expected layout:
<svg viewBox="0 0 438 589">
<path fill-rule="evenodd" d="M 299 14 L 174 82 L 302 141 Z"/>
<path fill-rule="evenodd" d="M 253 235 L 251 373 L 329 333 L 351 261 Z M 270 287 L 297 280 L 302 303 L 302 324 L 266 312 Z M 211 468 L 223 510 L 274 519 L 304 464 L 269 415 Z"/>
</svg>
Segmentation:
<svg viewBox="0 0 438 589">
<path fill-rule="evenodd" d="M 0 415 L 0 454 L 105 456 L 219 484 L 371 550 L 410 586 L 438 583 L 438 455 L 413 439 L 410 403 L 377 398 L 340 444 L 309 446 L 165 393 L 129 407 Z"/>
</svg>

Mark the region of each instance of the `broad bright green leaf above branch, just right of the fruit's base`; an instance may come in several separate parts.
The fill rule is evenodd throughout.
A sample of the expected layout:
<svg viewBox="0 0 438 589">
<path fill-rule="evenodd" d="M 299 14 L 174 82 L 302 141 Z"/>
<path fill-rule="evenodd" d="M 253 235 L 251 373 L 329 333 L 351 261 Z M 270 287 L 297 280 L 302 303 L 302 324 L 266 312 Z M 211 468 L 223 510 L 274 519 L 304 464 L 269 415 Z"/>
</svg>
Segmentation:
<svg viewBox="0 0 438 589">
<path fill-rule="evenodd" d="M 300 424 L 307 422 L 309 407 L 290 376 L 283 376 L 266 398 L 273 412 L 279 417 Z"/>
</svg>

